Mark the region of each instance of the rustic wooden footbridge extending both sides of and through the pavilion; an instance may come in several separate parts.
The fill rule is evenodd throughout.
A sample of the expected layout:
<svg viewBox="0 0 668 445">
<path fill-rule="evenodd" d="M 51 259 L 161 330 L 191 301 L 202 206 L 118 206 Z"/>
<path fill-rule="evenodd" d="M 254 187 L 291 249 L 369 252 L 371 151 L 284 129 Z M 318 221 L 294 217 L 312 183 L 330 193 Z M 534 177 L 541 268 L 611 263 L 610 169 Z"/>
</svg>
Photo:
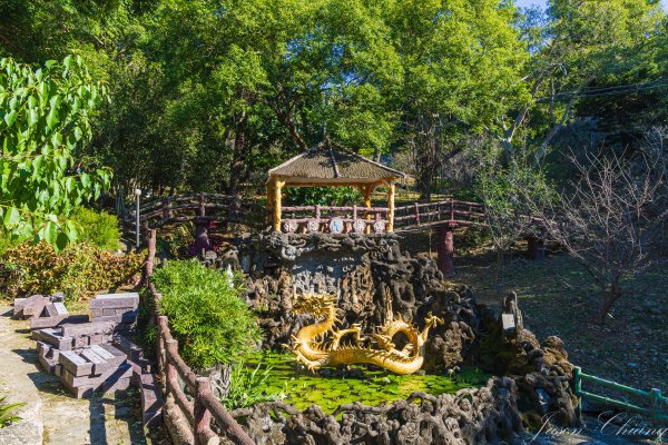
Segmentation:
<svg viewBox="0 0 668 445">
<path fill-rule="evenodd" d="M 263 206 L 239 197 L 190 194 L 158 198 L 141 205 L 138 222 L 145 231 L 194 222 L 197 240 L 202 246 L 208 246 L 212 222 L 242 224 L 254 230 L 268 229 L 271 227 L 268 220 L 257 222 L 262 214 L 268 216 Z M 287 234 L 383 234 L 435 229 L 438 263 L 445 274 L 454 269 L 454 229 L 488 225 L 483 204 L 455 199 L 412 202 L 394 208 L 283 206 L 282 215 L 281 231 Z M 518 215 L 518 218 L 529 218 L 529 222 L 537 226 L 542 224 L 537 218 L 528 216 Z M 128 228 L 137 225 L 136 210 L 127 212 L 124 221 Z M 537 260 L 542 259 L 544 243 L 541 237 L 528 235 L 527 239 L 528 256 Z"/>
</svg>

